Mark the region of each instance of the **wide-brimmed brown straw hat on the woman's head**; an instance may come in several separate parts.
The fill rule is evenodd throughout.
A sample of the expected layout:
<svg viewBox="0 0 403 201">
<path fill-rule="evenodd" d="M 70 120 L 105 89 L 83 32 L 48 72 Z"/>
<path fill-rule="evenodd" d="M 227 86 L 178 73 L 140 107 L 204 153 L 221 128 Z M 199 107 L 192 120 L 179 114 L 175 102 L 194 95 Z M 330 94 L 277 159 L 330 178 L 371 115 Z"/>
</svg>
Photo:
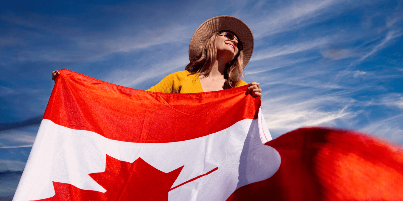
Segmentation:
<svg viewBox="0 0 403 201">
<path fill-rule="evenodd" d="M 248 25 L 233 16 L 216 16 L 208 19 L 196 29 L 189 45 L 189 60 L 193 62 L 200 58 L 204 42 L 217 31 L 229 30 L 237 35 L 243 45 L 243 67 L 249 62 L 253 53 L 253 34 Z"/>
</svg>

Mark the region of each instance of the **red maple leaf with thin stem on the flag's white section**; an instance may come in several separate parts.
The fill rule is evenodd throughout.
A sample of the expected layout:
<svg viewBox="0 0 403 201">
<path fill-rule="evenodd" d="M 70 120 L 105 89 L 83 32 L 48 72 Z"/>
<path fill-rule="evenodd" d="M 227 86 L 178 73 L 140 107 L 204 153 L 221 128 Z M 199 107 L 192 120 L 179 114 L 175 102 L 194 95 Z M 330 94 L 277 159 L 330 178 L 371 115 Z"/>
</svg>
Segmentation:
<svg viewBox="0 0 403 201">
<path fill-rule="evenodd" d="M 181 173 L 182 168 L 183 166 L 165 173 L 141 158 L 129 163 L 106 155 L 105 172 L 89 174 L 106 189 L 105 193 L 79 189 L 71 184 L 53 182 L 55 195 L 40 201 L 168 201 L 168 192 L 176 188 L 171 189 L 171 186 Z M 216 169 L 218 168 L 214 170 Z M 211 172 L 213 170 L 208 174 Z"/>
</svg>

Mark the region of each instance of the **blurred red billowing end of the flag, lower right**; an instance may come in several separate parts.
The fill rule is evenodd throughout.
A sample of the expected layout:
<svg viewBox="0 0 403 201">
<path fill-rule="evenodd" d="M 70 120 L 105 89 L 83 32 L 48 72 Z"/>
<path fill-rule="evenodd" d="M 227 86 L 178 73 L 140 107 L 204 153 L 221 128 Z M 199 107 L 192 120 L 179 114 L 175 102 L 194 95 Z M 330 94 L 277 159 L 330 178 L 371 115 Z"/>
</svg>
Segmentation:
<svg viewBox="0 0 403 201">
<path fill-rule="evenodd" d="M 305 127 L 267 142 L 281 156 L 270 178 L 231 201 L 403 200 L 403 148 L 365 133 Z"/>
</svg>

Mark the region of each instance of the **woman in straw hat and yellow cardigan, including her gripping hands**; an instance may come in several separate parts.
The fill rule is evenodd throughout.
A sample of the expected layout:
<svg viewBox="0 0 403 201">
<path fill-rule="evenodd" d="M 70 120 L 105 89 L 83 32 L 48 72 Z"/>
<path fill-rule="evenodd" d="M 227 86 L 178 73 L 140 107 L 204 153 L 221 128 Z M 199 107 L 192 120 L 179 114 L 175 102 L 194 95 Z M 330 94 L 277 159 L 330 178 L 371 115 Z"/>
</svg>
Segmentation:
<svg viewBox="0 0 403 201">
<path fill-rule="evenodd" d="M 210 18 L 193 34 L 189 45 L 190 63 L 185 70 L 166 76 L 147 91 L 197 93 L 247 85 L 243 81 L 243 68 L 251 58 L 253 46 L 252 32 L 240 19 L 233 16 Z M 52 72 L 52 79 L 59 74 Z M 257 82 L 249 84 L 248 92 L 262 97 Z"/>
</svg>

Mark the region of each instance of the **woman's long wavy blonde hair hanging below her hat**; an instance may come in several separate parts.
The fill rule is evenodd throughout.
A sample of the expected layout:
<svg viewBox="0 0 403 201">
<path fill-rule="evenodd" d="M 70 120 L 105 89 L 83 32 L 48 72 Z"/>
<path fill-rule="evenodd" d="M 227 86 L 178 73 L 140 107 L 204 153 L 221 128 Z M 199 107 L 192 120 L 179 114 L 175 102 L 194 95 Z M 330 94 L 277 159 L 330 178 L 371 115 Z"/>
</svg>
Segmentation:
<svg viewBox="0 0 403 201">
<path fill-rule="evenodd" d="M 207 77 L 213 67 L 213 62 L 217 59 L 216 39 L 220 31 L 213 33 L 204 43 L 204 48 L 200 58 L 190 62 L 185 70 L 191 74 L 197 74 L 196 79 L 203 75 Z M 238 52 L 235 58 L 225 65 L 224 78 L 226 79 L 224 89 L 234 88 L 238 82 L 243 80 L 243 59 L 242 50 Z"/>
</svg>

